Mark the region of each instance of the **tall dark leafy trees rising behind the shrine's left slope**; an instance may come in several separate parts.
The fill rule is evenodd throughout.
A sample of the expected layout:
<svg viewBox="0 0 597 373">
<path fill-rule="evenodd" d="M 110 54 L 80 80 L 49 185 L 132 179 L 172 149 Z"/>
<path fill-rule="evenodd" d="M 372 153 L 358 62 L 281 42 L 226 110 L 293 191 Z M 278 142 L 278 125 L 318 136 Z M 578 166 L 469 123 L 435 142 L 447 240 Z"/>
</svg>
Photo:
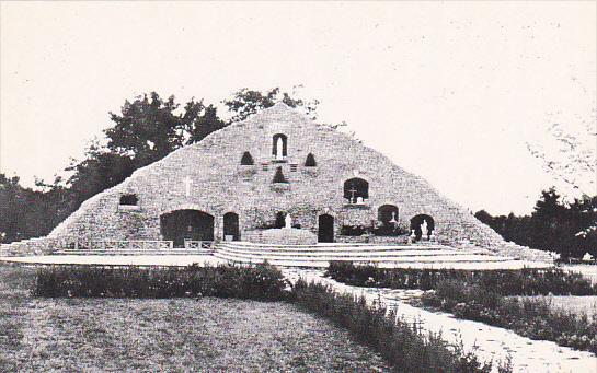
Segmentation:
<svg viewBox="0 0 597 373">
<path fill-rule="evenodd" d="M 93 142 L 83 161 L 73 161 L 68 179 L 76 208 L 93 195 L 122 183 L 139 167 L 170 152 L 203 140 L 226 127 L 213 105 L 191 98 L 182 113 L 174 96 L 162 100 L 156 92 L 125 101 L 122 114 L 110 113 L 114 126 L 107 128 L 107 145 Z"/>
</svg>

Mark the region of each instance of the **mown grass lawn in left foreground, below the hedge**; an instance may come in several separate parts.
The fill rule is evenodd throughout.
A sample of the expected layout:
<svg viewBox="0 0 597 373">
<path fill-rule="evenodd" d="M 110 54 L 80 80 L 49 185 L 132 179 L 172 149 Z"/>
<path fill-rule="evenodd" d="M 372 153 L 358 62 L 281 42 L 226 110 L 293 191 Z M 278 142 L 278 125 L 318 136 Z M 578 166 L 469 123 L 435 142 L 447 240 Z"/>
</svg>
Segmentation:
<svg viewBox="0 0 597 373">
<path fill-rule="evenodd" d="M 389 371 L 348 333 L 291 304 L 36 299 L 34 270 L 0 266 L 0 372 Z"/>
</svg>

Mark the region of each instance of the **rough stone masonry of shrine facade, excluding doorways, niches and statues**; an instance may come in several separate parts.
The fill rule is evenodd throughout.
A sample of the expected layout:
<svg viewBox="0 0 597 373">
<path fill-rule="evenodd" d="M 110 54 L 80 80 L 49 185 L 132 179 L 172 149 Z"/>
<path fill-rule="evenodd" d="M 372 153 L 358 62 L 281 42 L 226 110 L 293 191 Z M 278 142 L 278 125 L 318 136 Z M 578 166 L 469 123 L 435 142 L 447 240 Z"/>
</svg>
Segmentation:
<svg viewBox="0 0 597 373">
<path fill-rule="evenodd" d="M 273 137 L 287 136 L 285 163 L 273 163 Z M 240 165 L 249 151 L 255 165 Z M 303 166 L 313 153 L 317 166 Z M 291 164 L 297 164 L 291 171 Z M 273 184 L 280 166 L 289 184 Z M 343 184 L 352 177 L 369 183 L 369 199 L 360 208 L 346 207 Z M 192 180 L 186 196 L 185 179 Z M 118 207 L 119 197 L 136 194 L 137 209 Z M 49 235 L 53 240 L 163 240 L 160 215 L 196 209 L 215 217 L 215 237 L 221 240 L 223 214 L 239 214 L 243 233 L 274 223 L 276 212 L 287 211 L 294 223 L 318 232 L 318 217 L 334 217 L 334 235 L 344 224 L 370 225 L 378 208 L 394 205 L 398 221 L 425 213 L 435 220 L 438 242 L 452 246 L 475 245 L 520 257 L 546 259 L 542 253 L 507 244 L 467 210 L 441 197 L 427 182 L 392 164 L 381 153 L 347 135 L 312 123 L 284 104 L 277 104 L 244 121 L 232 124 L 203 141 L 176 150 L 137 170 L 122 184 L 83 202 Z M 349 237 L 342 237 L 347 241 Z M 358 238 L 355 238 L 357 241 Z M 397 240 L 403 242 L 404 237 Z"/>
</svg>

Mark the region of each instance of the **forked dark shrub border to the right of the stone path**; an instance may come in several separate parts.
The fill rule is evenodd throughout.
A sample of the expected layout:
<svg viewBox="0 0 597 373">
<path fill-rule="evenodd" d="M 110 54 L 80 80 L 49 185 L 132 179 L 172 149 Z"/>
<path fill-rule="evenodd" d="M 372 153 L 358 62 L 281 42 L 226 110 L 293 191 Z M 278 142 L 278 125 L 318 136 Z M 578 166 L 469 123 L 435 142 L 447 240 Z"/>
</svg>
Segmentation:
<svg viewBox="0 0 597 373">
<path fill-rule="evenodd" d="M 519 270 L 382 269 L 333 261 L 328 276 L 352 285 L 434 290 L 422 303 L 460 318 L 597 353 L 597 316 L 552 310 L 541 300 L 506 295 L 595 295 L 597 285 L 560 268 Z"/>
</svg>

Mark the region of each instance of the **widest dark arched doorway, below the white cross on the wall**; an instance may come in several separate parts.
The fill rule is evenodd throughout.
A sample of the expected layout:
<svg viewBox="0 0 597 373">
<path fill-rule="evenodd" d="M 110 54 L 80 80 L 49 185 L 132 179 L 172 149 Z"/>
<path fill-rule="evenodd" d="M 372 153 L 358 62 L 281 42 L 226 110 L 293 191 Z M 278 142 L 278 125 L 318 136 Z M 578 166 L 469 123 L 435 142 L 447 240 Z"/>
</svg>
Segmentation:
<svg viewBox="0 0 597 373">
<path fill-rule="evenodd" d="M 184 241 L 214 241 L 214 217 L 199 210 L 175 210 L 160 217 L 160 230 L 174 247 L 184 247 Z"/>
</svg>

